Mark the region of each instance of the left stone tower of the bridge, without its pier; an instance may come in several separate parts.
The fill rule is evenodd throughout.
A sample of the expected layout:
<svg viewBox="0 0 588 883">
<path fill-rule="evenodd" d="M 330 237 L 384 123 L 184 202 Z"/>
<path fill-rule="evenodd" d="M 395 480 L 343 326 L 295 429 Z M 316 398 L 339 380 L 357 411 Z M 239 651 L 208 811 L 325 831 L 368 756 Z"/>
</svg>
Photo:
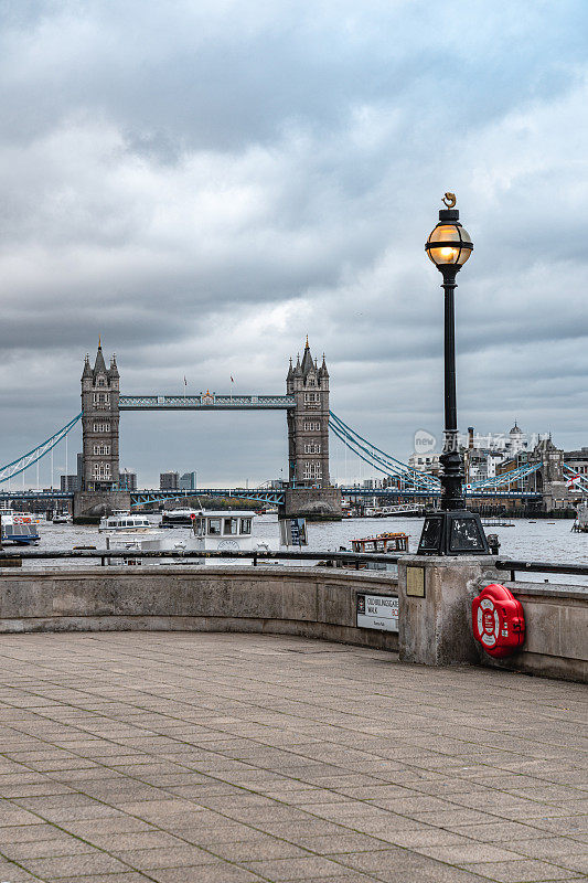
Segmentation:
<svg viewBox="0 0 588 883">
<path fill-rule="evenodd" d="M 118 488 L 118 424 L 120 375 L 113 355 L 106 368 L 103 348 L 94 368 L 86 355 L 82 372 L 82 490 L 111 491 Z"/>
</svg>

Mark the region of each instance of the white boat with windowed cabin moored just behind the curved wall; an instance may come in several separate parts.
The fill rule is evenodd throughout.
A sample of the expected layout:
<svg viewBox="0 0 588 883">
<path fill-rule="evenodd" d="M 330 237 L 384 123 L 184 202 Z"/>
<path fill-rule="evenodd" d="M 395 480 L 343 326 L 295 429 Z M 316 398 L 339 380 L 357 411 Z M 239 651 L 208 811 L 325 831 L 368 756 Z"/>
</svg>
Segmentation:
<svg viewBox="0 0 588 883">
<path fill-rule="evenodd" d="M 114 532 L 107 538 L 107 549 L 129 552 L 277 552 L 279 540 L 259 540 L 254 534 L 255 514 L 249 510 L 222 510 L 195 512 L 192 532 L 183 536 L 170 535 L 168 531 L 151 531 L 151 535 L 124 535 Z M 188 558 L 190 564 L 214 564 L 218 558 Z M 138 564 L 141 558 L 122 558 L 124 564 Z M 239 558 L 227 558 L 222 563 L 239 563 Z M 108 560 L 120 564 L 120 558 Z M 153 563 L 177 564 L 174 558 L 156 558 Z M 245 563 L 245 562 L 242 562 Z"/>
</svg>

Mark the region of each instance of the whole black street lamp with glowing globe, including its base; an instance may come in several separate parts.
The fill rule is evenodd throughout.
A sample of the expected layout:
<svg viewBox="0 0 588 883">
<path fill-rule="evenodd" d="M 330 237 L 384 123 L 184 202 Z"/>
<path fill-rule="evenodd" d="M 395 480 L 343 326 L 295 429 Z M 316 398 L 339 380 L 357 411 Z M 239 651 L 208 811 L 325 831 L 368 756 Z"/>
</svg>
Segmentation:
<svg viewBox="0 0 588 883">
<path fill-rule="evenodd" d="M 439 211 L 439 223 L 425 249 L 442 274 L 445 291 L 445 432 L 441 466 L 441 507 L 425 517 L 419 555 L 488 555 L 490 550 L 480 515 L 466 509 L 463 461 L 459 451 L 456 393 L 456 276 L 470 257 L 473 243 L 459 223 L 456 198 L 446 193 L 449 208 Z"/>
</svg>

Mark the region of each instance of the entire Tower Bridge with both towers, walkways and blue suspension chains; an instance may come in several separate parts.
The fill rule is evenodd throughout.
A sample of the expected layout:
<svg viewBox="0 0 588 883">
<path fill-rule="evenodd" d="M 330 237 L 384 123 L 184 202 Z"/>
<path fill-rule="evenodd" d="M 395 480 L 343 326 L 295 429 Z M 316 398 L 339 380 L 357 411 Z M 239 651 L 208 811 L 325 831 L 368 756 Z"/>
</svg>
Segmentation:
<svg viewBox="0 0 588 883">
<path fill-rule="evenodd" d="M 285 393 L 234 395 L 206 390 L 197 395 L 127 394 L 120 391 L 120 374 L 113 355 L 107 366 L 101 344 L 94 365 L 86 355 L 82 373 L 82 412 L 41 445 L 0 468 L 0 485 L 10 481 L 53 451 L 82 422 L 82 490 L 74 499 L 74 514 L 99 514 L 113 508 L 128 509 L 162 499 L 193 496 L 194 491 L 139 490 L 129 493 L 119 488 L 120 415 L 128 411 L 284 411 L 288 432 L 288 481 L 280 488 L 199 489 L 206 496 L 236 497 L 278 503 L 285 514 L 338 518 L 341 497 L 379 498 L 389 503 L 420 502 L 435 504 L 440 494 L 439 479 L 417 471 L 386 454 L 345 424 L 330 409 L 330 377 L 324 355 L 319 365 L 307 342 L 302 359 L 290 359 Z M 382 488 L 333 487 L 329 466 L 330 433 L 345 450 L 351 450 L 385 477 Z M 53 482 L 52 482 L 53 483 Z M 588 479 L 564 461 L 550 438 L 533 451 L 505 466 L 505 471 L 484 480 L 472 481 L 466 496 L 477 504 L 518 500 L 552 510 L 566 504 L 568 491 L 588 493 Z M 23 485 L 24 488 L 24 485 Z M 13 491 L 0 489 L 0 501 L 70 500 L 68 491 Z"/>
</svg>

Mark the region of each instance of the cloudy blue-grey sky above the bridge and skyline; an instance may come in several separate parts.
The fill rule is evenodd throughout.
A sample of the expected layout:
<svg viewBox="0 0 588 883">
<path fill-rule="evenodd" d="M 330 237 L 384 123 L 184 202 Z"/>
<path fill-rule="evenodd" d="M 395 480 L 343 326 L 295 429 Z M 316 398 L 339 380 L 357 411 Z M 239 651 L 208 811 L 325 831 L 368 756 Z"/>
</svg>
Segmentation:
<svg viewBox="0 0 588 883">
<path fill-rule="evenodd" d="M 447 190 L 461 428 L 588 445 L 584 0 L 0 12 L 2 464 L 78 412 L 98 334 L 126 393 L 281 393 L 308 332 L 332 409 L 407 458 L 442 422 Z M 124 414 L 121 466 L 275 477 L 285 415 Z M 367 477 L 339 443 L 332 475 Z"/>
</svg>

